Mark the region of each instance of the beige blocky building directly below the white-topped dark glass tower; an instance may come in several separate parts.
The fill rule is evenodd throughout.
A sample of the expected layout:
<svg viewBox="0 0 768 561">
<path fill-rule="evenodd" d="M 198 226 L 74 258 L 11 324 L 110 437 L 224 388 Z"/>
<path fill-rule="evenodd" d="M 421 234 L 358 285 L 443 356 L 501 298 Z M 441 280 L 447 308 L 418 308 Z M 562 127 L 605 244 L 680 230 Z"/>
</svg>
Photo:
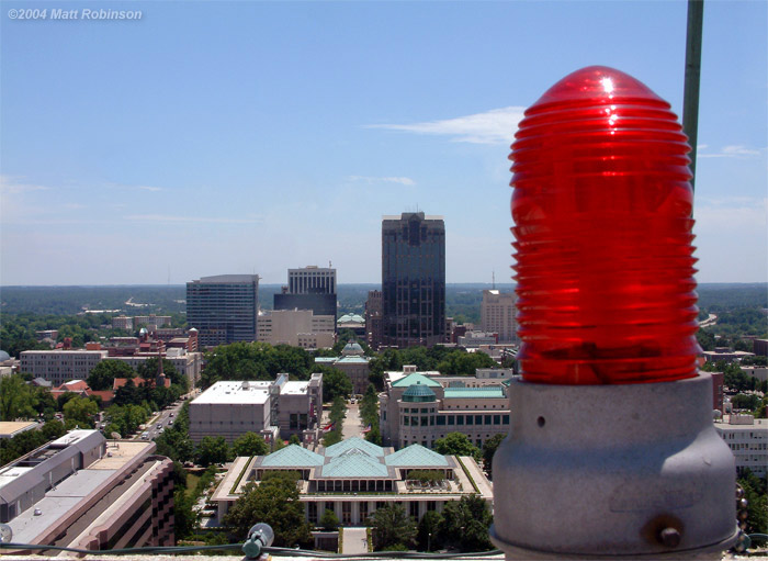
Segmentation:
<svg viewBox="0 0 768 561">
<path fill-rule="evenodd" d="M 336 341 L 336 316 L 312 310 L 273 310 L 258 318 L 259 340 L 304 349 L 328 349 Z"/>
</svg>

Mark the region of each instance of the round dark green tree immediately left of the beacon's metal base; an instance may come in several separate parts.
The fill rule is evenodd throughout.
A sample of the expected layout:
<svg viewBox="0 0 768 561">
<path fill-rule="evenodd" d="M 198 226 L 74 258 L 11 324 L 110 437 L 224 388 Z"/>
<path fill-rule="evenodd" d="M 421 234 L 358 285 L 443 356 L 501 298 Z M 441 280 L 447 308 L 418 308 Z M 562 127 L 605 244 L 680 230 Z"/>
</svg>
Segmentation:
<svg viewBox="0 0 768 561">
<path fill-rule="evenodd" d="M 487 551 L 493 549 L 488 528 L 493 521 L 488 503 L 479 495 L 462 496 L 448 501 L 442 510 L 441 538 L 461 551 Z"/>
</svg>

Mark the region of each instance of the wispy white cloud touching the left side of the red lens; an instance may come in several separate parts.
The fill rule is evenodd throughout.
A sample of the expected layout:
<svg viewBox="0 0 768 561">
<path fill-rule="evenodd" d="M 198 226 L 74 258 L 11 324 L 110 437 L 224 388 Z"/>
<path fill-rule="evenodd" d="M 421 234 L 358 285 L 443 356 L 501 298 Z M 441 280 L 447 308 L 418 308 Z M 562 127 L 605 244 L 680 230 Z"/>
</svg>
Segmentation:
<svg viewBox="0 0 768 561">
<path fill-rule="evenodd" d="M 512 105 L 455 119 L 406 125 L 368 125 L 366 128 L 450 136 L 451 141 L 460 143 L 511 144 L 524 111 L 526 108 Z"/>
</svg>

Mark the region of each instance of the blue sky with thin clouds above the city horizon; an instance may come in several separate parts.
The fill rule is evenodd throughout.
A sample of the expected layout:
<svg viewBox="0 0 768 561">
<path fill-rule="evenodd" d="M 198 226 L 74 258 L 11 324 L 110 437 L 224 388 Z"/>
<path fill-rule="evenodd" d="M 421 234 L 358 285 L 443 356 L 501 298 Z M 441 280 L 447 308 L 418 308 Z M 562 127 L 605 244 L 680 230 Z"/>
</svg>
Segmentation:
<svg viewBox="0 0 768 561">
<path fill-rule="evenodd" d="M 768 3 L 704 12 L 700 282 L 768 279 Z M 21 21 L 11 9 L 140 10 Z M 381 216 L 447 228 L 449 282 L 510 276 L 509 144 L 563 76 L 681 113 L 684 1 L 2 2 L 0 284 L 381 281 Z M 170 273 L 169 273 L 170 271 Z"/>
</svg>

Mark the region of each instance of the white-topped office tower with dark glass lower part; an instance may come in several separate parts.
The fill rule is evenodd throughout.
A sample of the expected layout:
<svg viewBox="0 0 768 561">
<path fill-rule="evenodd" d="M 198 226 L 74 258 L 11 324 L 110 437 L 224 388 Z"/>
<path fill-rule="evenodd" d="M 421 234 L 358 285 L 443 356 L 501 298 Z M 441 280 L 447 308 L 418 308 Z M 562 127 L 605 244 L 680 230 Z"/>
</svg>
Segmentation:
<svg viewBox="0 0 768 561">
<path fill-rule="evenodd" d="M 274 310 L 312 310 L 336 317 L 336 269 L 289 269 L 289 283 L 274 295 Z"/>
</svg>

